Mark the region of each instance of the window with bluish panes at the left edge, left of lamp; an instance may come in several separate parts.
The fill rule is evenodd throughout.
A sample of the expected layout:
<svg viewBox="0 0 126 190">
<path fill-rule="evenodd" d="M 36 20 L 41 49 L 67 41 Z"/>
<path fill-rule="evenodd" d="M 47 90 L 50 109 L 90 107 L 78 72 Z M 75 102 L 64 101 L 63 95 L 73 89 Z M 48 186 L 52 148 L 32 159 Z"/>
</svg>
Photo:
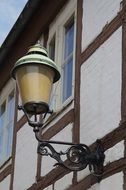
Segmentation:
<svg viewBox="0 0 126 190">
<path fill-rule="evenodd" d="M 0 164 L 11 156 L 14 125 L 14 90 L 5 94 L 1 95 L 4 101 L 0 101 Z"/>
</svg>

